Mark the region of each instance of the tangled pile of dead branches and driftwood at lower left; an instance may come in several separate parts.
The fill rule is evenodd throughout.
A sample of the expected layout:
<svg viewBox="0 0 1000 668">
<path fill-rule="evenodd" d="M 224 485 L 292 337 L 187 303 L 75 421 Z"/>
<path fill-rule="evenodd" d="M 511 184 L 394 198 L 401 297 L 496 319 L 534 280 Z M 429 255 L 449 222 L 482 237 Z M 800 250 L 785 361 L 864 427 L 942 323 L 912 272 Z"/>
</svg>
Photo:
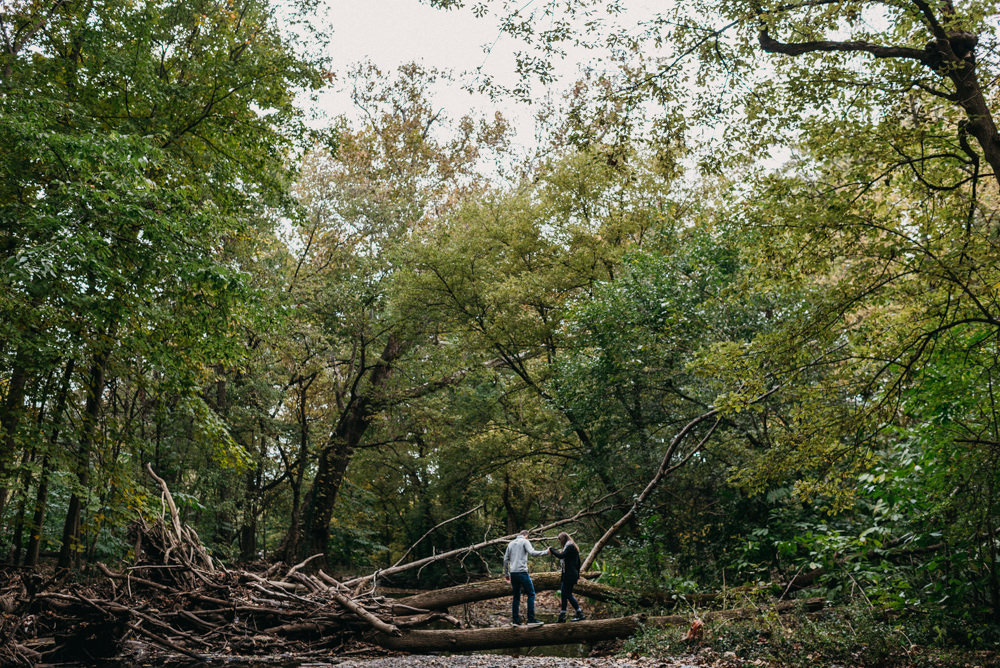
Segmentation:
<svg viewBox="0 0 1000 668">
<path fill-rule="evenodd" d="M 136 564 L 121 572 L 98 564 L 102 577 L 89 584 L 40 588 L 37 575 L 0 571 L 0 665 L 154 650 L 195 660 L 331 654 L 372 630 L 398 635 L 431 621 L 458 624 L 381 596 L 349 597 L 300 565 L 271 578 L 223 569 L 188 527 L 180 537 L 163 521 L 135 530 Z"/>
</svg>

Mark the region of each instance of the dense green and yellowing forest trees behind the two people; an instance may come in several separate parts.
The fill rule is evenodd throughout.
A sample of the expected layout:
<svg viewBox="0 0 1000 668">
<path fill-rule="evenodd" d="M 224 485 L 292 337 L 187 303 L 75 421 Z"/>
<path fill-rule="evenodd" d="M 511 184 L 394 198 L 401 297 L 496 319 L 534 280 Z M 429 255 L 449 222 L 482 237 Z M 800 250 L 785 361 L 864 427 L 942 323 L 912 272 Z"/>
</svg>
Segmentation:
<svg viewBox="0 0 1000 668">
<path fill-rule="evenodd" d="M 613 581 L 808 572 L 988 634 L 998 3 L 618 4 L 480 7 L 525 45 L 493 95 L 611 54 L 528 150 L 448 73 L 325 62 L 309 3 L 5 2 L 4 558 L 127 557 L 149 464 L 223 561 L 574 515 L 587 553 L 629 512 Z M 358 113 L 317 127 L 334 75 Z"/>
</svg>

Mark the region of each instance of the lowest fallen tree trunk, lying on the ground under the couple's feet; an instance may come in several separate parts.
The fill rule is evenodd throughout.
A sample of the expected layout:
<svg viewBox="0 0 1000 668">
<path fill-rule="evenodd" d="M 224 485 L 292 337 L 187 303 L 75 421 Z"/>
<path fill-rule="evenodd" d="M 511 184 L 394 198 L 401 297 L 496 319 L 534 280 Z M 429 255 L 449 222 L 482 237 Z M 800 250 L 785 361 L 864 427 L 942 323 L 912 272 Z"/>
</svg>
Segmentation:
<svg viewBox="0 0 1000 668">
<path fill-rule="evenodd" d="M 801 602 L 778 603 L 769 608 L 775 612 L 789 612 L 795 609 L 807 611 L 823 607 L 823 598 L 811 598 Z M 758 608 L 720 610 L 701 615 L 703 620 L 735 619 L 755 615 Z M 442 631 L 407 631 L 400 636 L 377 633 L 375 642 L 386 649 L 402 652 L 464 652 L 471 650 L 506 649 L 537 645 L 566 645 L 581 642 L 597 642 L 628 638 L 642 627 L 662 628 L 673 625 L 687 625 L 694 619 L 692 615 L 667 615 L 647 617 L 632 615 L 614 619 L 596 619 L 567 624 L 546 624 L 545 626 L 502 626 L 488 629 L 448 629 Z"/>
</svg>

